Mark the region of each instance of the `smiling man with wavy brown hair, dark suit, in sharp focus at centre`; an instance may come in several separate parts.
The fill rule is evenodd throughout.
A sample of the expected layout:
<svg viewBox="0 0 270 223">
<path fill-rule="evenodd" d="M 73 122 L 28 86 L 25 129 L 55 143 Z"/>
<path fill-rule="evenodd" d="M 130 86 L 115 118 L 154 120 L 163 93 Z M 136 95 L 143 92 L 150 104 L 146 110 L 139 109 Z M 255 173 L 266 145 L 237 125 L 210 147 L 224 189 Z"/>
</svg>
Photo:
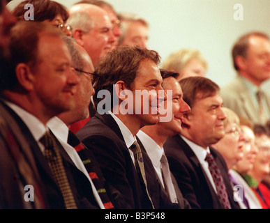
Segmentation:
<svg viewBox="0 0 270 223">
<path fill-rule="evenodd" d="M 158 90 L 164 93 L 158 62 L 157 52 L 139 47 L 119 47 L 107 54 L 95 71 L 98 112 L 77 132 L 93 151 L 107 182 L 120 192 L 126 208 L 179 207 L 163 193 L 149 162 L 142 168 L 136 159 L 140 154 L 132 151 L 140 128 L 158 122 L 157 101 L 165 98 L 158 95 Z"/>
</svg>

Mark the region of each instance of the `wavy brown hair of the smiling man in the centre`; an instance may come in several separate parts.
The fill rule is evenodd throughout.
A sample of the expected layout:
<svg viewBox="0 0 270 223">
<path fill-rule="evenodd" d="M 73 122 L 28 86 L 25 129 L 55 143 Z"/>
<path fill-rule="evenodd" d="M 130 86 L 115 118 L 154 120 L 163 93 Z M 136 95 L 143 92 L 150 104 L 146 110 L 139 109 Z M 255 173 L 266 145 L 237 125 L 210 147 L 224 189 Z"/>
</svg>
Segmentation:
<svg viewBox="0 0 270 223">
<path fill-rule="evenodd" d="M 140 47 L 119 46 L 103 57 L 96 66 L 95 71 L 98 76 L 95 86 L 96 94 L 93 97 L 96 104 L 102 100 L 96 98 L 98 91 L 107 90 L 112 95 L 114 91 L 113 84 L 116 84 L 119 80 L 122 80 L 127 87 L 130 87 L 137 75 L 140 63 L 146 59 L 156 64 L 160 63 L 158 52 L 141 49 Z"/>
</svg>

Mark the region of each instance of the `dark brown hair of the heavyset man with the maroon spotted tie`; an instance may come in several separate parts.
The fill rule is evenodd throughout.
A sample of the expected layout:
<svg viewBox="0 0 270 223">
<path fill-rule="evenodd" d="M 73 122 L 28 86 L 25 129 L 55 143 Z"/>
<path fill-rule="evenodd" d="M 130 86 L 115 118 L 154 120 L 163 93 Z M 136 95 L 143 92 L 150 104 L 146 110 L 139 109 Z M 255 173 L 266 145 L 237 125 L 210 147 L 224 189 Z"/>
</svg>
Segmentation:
<svg viewBox="0 0 270 223">
<path fill-rule="evenodd" d="M 195 100 L 210 97 L 220 91 L 220 87 L 207 77 L 186 77 L 179 81 L 183 100 L 193 107 Z"/>
</svg>

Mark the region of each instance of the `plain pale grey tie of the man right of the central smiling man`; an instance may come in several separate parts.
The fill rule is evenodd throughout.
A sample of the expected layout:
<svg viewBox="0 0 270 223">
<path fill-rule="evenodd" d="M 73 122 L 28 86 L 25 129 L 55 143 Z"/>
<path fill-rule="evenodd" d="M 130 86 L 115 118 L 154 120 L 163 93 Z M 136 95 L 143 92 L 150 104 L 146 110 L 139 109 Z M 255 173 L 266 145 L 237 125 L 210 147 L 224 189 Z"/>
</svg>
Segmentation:
<svg viewBox="0 0 270 223">
<path fill-rule="evenodd" d="M 172 184 L 172 177 L 170 173 L 169 163 L 168 163 L 167 157 L 164 154 L 162 155 L 160 162 L 161 162 L 161 173 L 163 176 L 163 183 L 165 186 L 165 190 L 167 194 L 169 194 L 169 197 L 172 203 L 178 203 L 177 194 L 174 190 L 174 185 Z"/>
</svg>

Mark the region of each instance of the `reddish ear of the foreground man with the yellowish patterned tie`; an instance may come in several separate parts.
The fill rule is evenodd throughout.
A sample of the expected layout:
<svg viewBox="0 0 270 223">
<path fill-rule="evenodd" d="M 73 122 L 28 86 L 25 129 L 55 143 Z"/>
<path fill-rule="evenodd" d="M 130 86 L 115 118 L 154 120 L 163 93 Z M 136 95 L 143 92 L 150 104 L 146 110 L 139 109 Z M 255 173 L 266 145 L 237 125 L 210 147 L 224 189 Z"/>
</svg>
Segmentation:
<svg viewBox="0 0 270 223">
<path fill-rule="evenodd" d="M 16 77 L 20 85 L 27 91 L 33 90 L 34 75 L 26 63 L 19 63 L 16 68 Z"/>
</svg>

